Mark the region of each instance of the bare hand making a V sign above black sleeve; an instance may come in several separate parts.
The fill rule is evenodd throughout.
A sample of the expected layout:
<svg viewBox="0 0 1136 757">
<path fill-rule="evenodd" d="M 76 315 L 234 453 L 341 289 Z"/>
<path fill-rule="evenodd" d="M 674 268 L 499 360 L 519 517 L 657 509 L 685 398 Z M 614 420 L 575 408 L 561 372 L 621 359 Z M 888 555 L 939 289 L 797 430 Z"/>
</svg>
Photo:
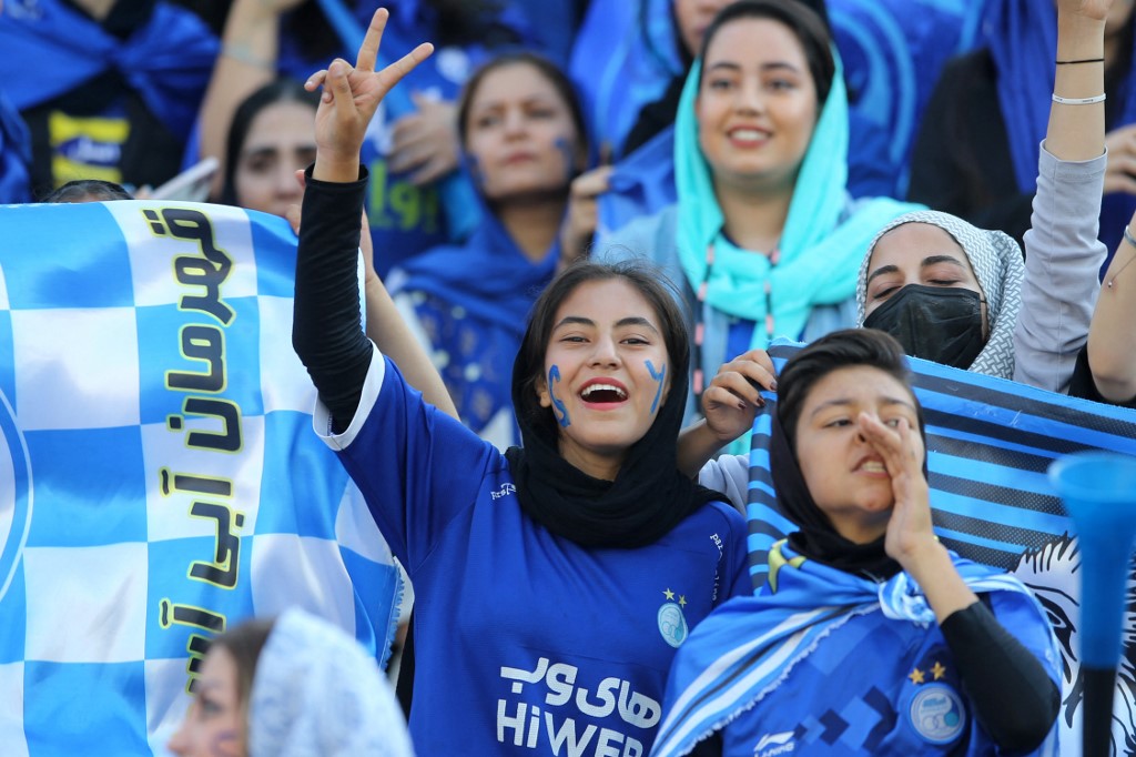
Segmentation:
<svg viewBox="0 0 1136 757">
<path fill-rule="evenodd" d="M 358 166 L 367 125 L 378 109 L 378 103 L 403 76 L 434 51 L 434 45 L 424 42 L 383 70 L 376 72 L 375 60 L 389 17 L 390 13 L 385 8 L 375 11 L 354 66 L 336 58 L 326 70 L 316 72 L 304 84 L 309 91 L 319 86 L 324 89 L 316 110 L 316 170 L 312 174 L 316 178 L 327 178 L 321 174 L 328 166 Z"/>
</svg>

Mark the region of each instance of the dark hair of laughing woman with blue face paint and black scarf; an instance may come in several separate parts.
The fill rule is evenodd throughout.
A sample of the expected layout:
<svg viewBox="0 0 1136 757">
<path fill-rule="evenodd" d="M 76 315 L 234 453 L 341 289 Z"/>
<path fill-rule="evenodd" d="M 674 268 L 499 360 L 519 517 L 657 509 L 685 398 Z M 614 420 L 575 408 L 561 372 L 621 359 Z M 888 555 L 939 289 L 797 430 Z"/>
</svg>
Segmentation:
<svg viewBox="0 0 1136 757">
<path fill-rule="evenodd" d="M 596 263 L 582 258 L 565 268 L 536 299 L 512 368 L 512 396 L 517 416 L 528 418 L 534 429 L 550 434 L 550 438 L 556 438 L 557 434 L 556 418 L 551 410 L 541 407 L 536 386 L 544 377 L 544 355 L 552 338 L 557 310 L 582 284 L 611 280 L 626 282 L 654 308 L 663 343 L 667 346 L 667 356 L 674 366 L 671 375 L 686 375 L 690 368 L 690 335 L 675 285 L 655 266 L 642 258 L 619 263 Z M 676 397 L 674 393 L 669 399 L 686 401 L 685 397 Z"/>
</svg>

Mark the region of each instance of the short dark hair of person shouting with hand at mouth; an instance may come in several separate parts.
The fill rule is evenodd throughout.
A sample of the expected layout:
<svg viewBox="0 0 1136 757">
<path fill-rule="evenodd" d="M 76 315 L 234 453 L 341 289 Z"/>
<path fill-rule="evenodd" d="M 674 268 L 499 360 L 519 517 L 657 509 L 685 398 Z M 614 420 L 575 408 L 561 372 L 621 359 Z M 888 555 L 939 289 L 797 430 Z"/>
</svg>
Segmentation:
<svg viewBox="0 0 1136 757">
<path fill-rule="evenodd" d="M 876 328 L 845 328 L 826 334 L 802 348 L 785 363 L 777 375 L 777 418 L 794 454 L 796 424 L 812 388 L 833 371 L 853 366 L 878 368 L 907 386 L 919 416 L 919 432 L 922 433 L 922 407 L 911 390 L 911 368 L 903 348 L 886 332 Z"/>
</svg>

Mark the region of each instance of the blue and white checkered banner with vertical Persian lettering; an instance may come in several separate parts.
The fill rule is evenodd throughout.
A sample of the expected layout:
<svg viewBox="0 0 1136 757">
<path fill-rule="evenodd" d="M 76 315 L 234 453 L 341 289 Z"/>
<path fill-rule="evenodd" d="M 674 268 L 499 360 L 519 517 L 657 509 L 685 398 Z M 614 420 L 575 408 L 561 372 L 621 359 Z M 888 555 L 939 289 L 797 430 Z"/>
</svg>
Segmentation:
<svg viewBox="0 0 1136 757">
<path fill-rule="evenodd" d="M 300 606 L 378 657 L 398 572 L 311 430 L 295 236 L 0 207 L 0 752 L 165 754 L 208 639 Z"/>
</svg>

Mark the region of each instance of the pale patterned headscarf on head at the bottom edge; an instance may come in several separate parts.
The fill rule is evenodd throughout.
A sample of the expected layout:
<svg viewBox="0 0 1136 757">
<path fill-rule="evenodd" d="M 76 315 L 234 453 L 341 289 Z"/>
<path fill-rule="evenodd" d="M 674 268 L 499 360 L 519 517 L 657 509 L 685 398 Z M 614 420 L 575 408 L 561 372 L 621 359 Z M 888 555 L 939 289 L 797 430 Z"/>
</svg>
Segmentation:
<svg viewBox="0 0 1136 757">
<path fill-rule="evenodd" d="M 414 757 L 391 685 L 353 638 L 290 609 L 257 659 L 251 757 Z"/>
</svg>

